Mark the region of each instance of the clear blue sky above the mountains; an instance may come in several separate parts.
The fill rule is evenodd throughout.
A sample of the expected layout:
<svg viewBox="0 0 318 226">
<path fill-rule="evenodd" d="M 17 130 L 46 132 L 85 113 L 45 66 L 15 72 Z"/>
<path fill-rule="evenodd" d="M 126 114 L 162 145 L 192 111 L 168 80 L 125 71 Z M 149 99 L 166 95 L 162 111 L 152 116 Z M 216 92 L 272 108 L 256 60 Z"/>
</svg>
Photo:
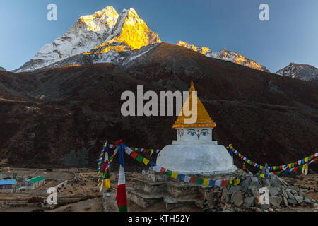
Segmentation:
<svg viewBox="0 0 318 226">
<path fill-rule="evenodd" d="M 58 20 L 47 20 L 56 4 Z M 269 4 L 269 21 L 259 20 Z M 179 40 L 223 47 L 254 59 L 271 72 L 290 62 L 318 67 L 317 0 L 1 0 L 0 66 L 13 70 L 63 35 L 82 15 L 114 6 L 134 8 L 163 42 Z"/>
</svg>

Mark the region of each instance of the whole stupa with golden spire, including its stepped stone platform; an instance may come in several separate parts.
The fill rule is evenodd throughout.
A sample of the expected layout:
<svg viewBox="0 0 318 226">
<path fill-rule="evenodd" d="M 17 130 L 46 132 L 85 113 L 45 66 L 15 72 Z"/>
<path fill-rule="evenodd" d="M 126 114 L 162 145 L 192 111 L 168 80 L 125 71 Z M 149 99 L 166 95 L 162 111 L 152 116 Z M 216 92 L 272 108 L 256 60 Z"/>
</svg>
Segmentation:
<svg viewBox="0 0 318 226">
<path fill-rule="evenodd" d="M 193 81 L 190 94 L 192 92 L 195 92 Z M 185 120 L 187 117 L 182 114 L 184 108 L 192 108 L 192 95 L 189 95 L 173 125 L 177 130 L 177 141 L 172 141 L 172 145 L 167 145 L 160 151 L 157 165 L 172 172 L 202 179 L 228 180 L 242 177 L 242 170 L 232 164 L 232 157 L 226 148 L 212 139 L 216 123 L 197 95 L 193 97 L 196 98 L 197 105 L 196 121 L 189 124 Z M 167 210 L 181 206 L 202 210 L 204 199 L 212 201 L 214 194 L 219 196 L 223 189 L 219 186 L 181 182 L 149 167 L 143 170 L 140 178 L 133 179 L 132 187 L 127 187 L 127 197 L 129 202 L 136 203 L 141 208 L 164 203 Z"/>
</svg>

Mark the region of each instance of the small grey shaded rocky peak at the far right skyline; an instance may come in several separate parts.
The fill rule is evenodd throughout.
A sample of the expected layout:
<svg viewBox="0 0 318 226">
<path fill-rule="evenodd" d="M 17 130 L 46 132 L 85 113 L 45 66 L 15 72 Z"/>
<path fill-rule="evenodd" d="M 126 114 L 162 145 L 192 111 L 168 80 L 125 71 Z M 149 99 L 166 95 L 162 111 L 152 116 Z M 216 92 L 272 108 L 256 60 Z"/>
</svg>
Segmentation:
<svg viewBox="0 0 318 226">
<path fill-rule="evenodd" d="M 290 63 L 288 66 L 277 71 L 276 74 L 304 81 L 318 81 L 318 69 L 308 64 Z"/>
</svg>

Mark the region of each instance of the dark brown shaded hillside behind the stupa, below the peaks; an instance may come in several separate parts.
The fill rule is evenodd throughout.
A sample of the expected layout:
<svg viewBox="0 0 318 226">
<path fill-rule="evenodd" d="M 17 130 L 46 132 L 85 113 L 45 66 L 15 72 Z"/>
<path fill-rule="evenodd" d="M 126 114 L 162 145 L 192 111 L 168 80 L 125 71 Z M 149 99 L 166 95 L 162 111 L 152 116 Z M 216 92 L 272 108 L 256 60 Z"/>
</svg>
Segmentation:
<svg viewBox="0 0 318 226">
<path fill-rule="evenodd" d="M 132 52 L 134 60 L 124 66 L 1 71 L 0 158 L 19 167 L 95 167 L 105 138 L 163 148 L 176 136 L 176 117 L 122 117 L 122 92 L 136 93 L 136 85 L 143 85 L 144 92 L 188 90 L 191 79 L 216 121 L 213 138 L 220 144 L 232 143 L 250 159 L 270 165 L 317 152 L 317 83 L 256 71 L 173 44 Z M 136 167 L 129 157 L 125 163 L 128 169 Z M 235 164 L 242 166 L 237 159 Z"/>
</svg>

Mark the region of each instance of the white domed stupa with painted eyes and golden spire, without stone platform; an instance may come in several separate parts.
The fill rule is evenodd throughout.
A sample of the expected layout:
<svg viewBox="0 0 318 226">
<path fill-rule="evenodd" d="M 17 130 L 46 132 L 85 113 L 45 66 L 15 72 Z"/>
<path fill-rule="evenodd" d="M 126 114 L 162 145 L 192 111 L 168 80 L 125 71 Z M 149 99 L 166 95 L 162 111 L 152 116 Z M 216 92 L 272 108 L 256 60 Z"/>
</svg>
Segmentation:
<svg viewBox="0 0 318 226">
<path fill-rule="evenodd" d="M 204 105 L 195 92 L 194 83 L 191 82 L 189 97 L 182 111 L 175 121 L 173 128 L 177 131 L 177 141 L 167 145 L 157 157 L 157 165 L 180 174 L 222 174 L 235 172 L 237 167 L 232 163 L 232 157 L 223 145 L 213 141 L 212 131 L 216 123 L 211 119 Z M 192 110 L 192 97 L 196 98 L 196 122 L 187 124 L 184 108 Z M 194 101 L 195 103 L 195 101 Z M 188 107 L 189 106 L 189 107 Z"/>
</svg>

